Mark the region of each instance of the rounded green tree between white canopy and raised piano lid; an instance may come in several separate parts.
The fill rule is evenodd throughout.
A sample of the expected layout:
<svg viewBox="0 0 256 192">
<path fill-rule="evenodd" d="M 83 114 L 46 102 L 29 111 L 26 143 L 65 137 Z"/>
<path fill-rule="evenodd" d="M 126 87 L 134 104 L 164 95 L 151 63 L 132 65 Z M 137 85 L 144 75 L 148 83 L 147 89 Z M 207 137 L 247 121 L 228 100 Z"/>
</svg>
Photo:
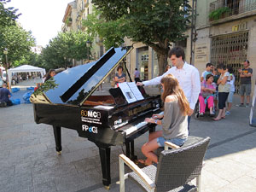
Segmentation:
<svg viewBox="0 0 256 192">
<path fill-rule="evenodd" d="M 84 32 L 59 32 L 43 49 L 44 67 L 67 68 L 72 59 L 88 59 L 87 40 L 90 40 L 89 36 Z"/>
</svg>

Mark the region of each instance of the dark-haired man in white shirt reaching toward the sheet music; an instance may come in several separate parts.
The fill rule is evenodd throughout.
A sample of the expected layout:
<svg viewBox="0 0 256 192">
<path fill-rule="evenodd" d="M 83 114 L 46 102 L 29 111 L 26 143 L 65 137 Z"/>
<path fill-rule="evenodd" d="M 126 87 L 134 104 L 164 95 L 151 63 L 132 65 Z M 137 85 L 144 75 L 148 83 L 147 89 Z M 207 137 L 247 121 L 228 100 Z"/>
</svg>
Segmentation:
<svg viewBox="0 0 256 192">
<path fill-rule="evenodd" d="M 201 91 L 199 72 L 194 66 L 189 65 L 186 61 L 184 61 L 184 50 L 180 47 L 172 48 L 168 53 L 168 57 L 171 58 L 172 65 L 174 67 L 170 68 L 166 73 L 164 73 L 160 77 L 156 77 L 148 81 L 137 82 L 137 85 L 148 86 L 160 84 L 160 80 L 164 76 L 166 76 L 166 74 L 171 73 L 172 75 L 174 75 L 174 77 L 177 78 L 179 85 L 183 89 L 184 94 L 189 101 L 190 112 L 188 119 L 190 121 L 190 117 L 194 112 L 195 104 L 198 100 L 198 96 Z"/>
</svg>

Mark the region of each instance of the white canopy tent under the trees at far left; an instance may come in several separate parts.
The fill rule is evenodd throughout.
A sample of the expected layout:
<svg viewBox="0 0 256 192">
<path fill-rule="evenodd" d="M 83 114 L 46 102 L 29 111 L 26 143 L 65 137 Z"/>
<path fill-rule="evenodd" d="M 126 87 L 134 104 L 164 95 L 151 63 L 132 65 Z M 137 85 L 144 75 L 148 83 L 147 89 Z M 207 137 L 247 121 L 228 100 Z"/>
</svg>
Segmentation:
<svg viewBox="0 0 256 192">
<path fill-rule="evenodd" d="M 23 65 L 20 67 L 10 68 L 8 69 L 8 80 L 9 80 L 9 89 L 11 87 L 10 82 L 12 80 L 12 73 L 27 73 L 27 72 L 39 72 L 41 73 L 41 77 L 45 75 L 45 69 L 40 67 L 34 67 L 30 65 Z"/>
</svg>

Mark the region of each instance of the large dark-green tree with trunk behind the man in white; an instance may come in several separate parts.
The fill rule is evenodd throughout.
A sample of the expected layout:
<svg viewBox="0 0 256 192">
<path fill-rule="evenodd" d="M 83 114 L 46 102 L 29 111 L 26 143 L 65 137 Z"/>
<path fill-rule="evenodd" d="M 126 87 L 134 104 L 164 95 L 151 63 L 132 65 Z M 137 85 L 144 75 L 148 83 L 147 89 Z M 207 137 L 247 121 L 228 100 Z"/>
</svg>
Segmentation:
<svg viewBox="0 0 256 192">
<path fill-rule="evenodd" d="M 166 67 L 170 43 L 186 38 L 189 0 L 92 0 L 108 20 L 123 20 L 125 36 L 142 42 L 158 55 L 160 74 Z M 118 29 L 118 28 L 117 28 Z"/>
</svg>

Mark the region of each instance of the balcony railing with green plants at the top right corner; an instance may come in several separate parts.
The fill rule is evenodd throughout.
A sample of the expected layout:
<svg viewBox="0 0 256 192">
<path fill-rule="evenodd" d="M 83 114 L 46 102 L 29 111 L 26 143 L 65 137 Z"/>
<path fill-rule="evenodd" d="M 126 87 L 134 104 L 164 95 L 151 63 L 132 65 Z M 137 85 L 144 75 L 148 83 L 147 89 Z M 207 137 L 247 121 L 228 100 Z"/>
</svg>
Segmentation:
<svg viewBox="0 0 256 192">
<path fill-rule="evenodd" d="M 256 10 L 256 0 L 218 0 L 210 3 L 209 19 L 218 20 Z"/>
</svg>

